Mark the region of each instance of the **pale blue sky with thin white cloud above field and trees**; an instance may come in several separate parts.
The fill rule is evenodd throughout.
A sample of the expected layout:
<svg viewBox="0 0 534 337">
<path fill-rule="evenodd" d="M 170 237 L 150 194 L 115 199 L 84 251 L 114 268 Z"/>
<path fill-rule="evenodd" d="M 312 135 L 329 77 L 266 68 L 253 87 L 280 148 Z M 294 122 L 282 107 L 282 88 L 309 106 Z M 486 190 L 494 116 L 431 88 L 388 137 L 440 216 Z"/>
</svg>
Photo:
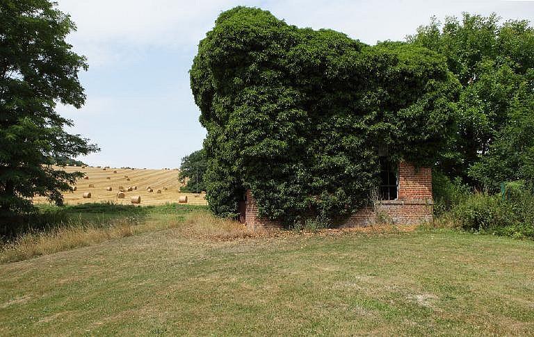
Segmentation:
<svg viewBox="0 0 534 337">
<path fill-rule="evenodd" d="M 56 0 L 77 31 L 68 37 L 88 58 L 79 74 L 87 100 L 81 109 L 58 106 L 74 121 L 71 133 L 101 151 L 78 159 L 111 167 L 179 167 L 202 148 L 188 70 L 218 15 L 234 6 L 269 10 L 288 24 L 331 28 L 367 44 L 405 40 L 435 15 L 462 12 L 534 22 L 534 0 Z"/>
</svg>

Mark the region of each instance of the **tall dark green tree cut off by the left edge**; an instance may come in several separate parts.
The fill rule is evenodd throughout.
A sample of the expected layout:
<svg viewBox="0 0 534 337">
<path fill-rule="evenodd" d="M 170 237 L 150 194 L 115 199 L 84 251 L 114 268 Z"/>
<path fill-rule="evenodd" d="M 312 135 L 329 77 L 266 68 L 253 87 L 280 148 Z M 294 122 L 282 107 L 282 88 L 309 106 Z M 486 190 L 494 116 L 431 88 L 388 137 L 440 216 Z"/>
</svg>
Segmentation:
<svg viewBox="0 0 534 337">
<path fill-rule="evenodd" d="M 62 204 L 83 174 L 54 170 L 54 158 L 98 150 L 67 133 L 72 121 L 55 111 L 86 99 L 78 79 L 86 58 L 65 42 L 74 29 L 50 1 L 0 2 L 0 215 L 30 211 L 34 195 Z"/>
</svg>

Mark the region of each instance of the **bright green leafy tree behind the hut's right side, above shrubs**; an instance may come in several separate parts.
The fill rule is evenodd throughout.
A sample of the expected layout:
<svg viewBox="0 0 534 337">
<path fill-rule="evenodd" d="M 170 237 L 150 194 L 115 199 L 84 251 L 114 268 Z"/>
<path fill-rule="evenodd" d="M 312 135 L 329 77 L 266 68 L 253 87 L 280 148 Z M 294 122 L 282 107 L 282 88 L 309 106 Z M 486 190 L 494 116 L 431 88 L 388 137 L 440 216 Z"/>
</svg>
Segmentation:
<svg viewBox="0 0 534 337">
<path fill-rule="evenodd" d="M 529 22 L 500 24 L 496 15 L 466 13 L 462 21 L 447 17 L 444 24 L 434 18 L 408 40 L 444 55 L 462 84 L 458 133 L 439 161 L 442 170 L 489 188 L 515 179 L 523 165 L 511 161 L 526 155 L 518 157 L 517 149 L 528 147 L 511 145 L 525 138 L 525 123 L 534 120 L 533 110 L 526 109 L 532 95 L 524 94 L 534 89 L 534 29 Z"/>
</svg>

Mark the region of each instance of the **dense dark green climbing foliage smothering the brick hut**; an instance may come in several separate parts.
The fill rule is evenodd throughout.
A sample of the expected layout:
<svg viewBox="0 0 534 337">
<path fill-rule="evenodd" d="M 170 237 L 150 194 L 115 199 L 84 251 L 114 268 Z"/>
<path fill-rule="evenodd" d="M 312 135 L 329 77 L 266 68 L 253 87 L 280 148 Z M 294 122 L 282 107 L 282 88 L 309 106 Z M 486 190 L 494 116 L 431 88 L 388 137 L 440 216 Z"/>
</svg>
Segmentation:
<svg viewBox="0 0 534 337">
<path fill-rule="evenodd" d="M 235 215 L 250 188 L 259 215 L 292 224 L 363 206 L 385 151 L 435 163 L 455 132 L 459 83 L 426 48 L 370 47 L 236 7 L 200 42 L 191 88 L 211 210 Z"/>
</svg>

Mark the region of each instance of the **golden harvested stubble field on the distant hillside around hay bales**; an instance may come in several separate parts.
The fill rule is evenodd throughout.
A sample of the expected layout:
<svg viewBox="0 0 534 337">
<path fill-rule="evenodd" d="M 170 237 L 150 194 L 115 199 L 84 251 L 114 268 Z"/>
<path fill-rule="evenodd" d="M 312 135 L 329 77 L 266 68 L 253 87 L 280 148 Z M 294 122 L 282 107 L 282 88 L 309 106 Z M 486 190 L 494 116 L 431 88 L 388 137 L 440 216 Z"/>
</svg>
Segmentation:
<svg viewBox="0 0 534 337">
<path fill-rule="evenodd" d="M 59 167 L 57 167 L 59 168 Z M 178 179 L 178 170 L 145 170 L 145 169 L 120 169 L 120 168 L 104 168 L 99 167 L 61 167 L 67 172 L 80 171 L 86 173 L 88 180 L 80 179 L 76 183 L 76 191 L 66 192 L 65 204 L 86 204 L 94 202 L 113 202 L 115 204 L 131 204 L 131 197 L 140 195 L 141 205 L 161 205 L 166 203 L 177 203 L 178 198 L 187 196 L 188 204 L 190 205 L 206 205 L 204 195 L 195 193 L 180 192 L 180 183 Z M 117 171 L 117 173 L 113 173 Z M 107 178 L 110 179 L 107 179 Z M 128 178 L 130 181 L 128 181 Z M 93 184 L 95 187 L 90 188 Z M 124 192 L 126 195 L 124 199 L 119 199 L 117 193 L 119 187 L 129 188 L 130 186 L 137 186 L 137 190 L 132 192 Z M 147 186 L 150 186 L 154 191 L 148 192 Z M 111 187 L 112 190 L 106 190 Z M 166 187 L 167 190 L 163 188 Z M 156 191 L 161 190 L 161 194 Z M 90 192 L 90 199 L 84 199 L 83 193 Z M 35 197 L 35 203 L 46 203 L 47 199 L 44 197 Z"/>
</svg>

